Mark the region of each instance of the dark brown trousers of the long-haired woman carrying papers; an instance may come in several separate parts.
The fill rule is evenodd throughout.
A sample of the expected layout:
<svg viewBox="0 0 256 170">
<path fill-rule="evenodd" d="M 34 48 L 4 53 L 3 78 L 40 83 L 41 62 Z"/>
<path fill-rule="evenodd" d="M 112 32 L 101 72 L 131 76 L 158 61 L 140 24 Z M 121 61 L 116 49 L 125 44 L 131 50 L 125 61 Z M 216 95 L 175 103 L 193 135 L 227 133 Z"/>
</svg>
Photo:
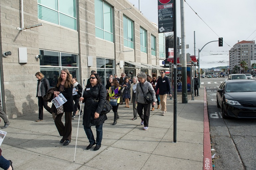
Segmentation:
<svg viewBox="0 0 256 170">
<path fill-rule="evenodd" d="M 61 121 L 61 118 L 63 114 L 65 113 L 65 126 L 63 122 Z M 71 141 L 71 132 L 72 132 L 72 124 L 71 124 L 71 115 L 72 112 L 64 112 L 56 116 L 55 118 L 55 125 L 56 128 L 60 134 L 60 136 L 63 136 L 63 140 L 69 140 Z"/>
</svg>

